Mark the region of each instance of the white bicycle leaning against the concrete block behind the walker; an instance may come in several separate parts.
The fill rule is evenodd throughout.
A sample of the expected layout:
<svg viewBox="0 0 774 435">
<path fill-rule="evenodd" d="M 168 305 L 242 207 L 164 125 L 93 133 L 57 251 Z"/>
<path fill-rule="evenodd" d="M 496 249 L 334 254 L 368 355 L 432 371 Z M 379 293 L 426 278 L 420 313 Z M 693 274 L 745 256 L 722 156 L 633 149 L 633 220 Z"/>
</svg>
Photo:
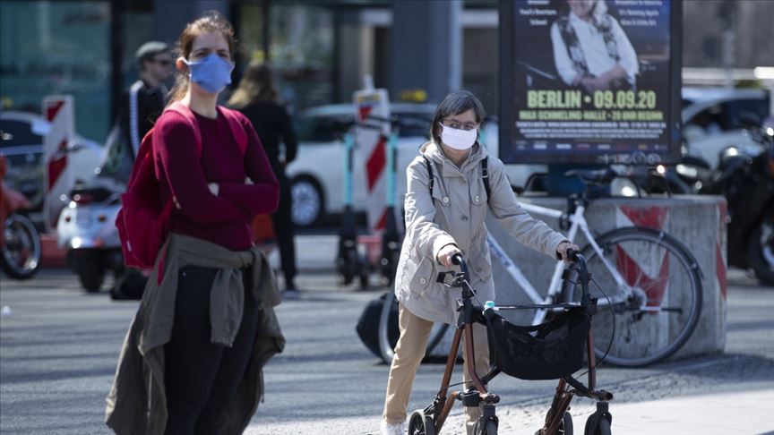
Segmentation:
<svg viewBox="0 0 774 435">
<path fill-rule="evenodd" d="M 599 300 L 593 337 L 598 359 L 604 357 L 606 362 L 623 367 L 642 367 L 675 354 L 691 337 L 701 315 L 701 269 L 696 259 L 672 235 L 647 227 L 620 227 L 595 237 L 584 217 L 592 201 L 588 185 L 608 185 L 618 174 L 612 169 L 603 169 L 573 170 L 566 175 L 577 176 L 584 184 L 581 194 L 568 197 L 566 211 L 526 202 L 520 205 L 533 215 L 565 222 L 569 240 L 574 241 L 580 229 L 589 241 L 581 254 L 587 259 L 597 284 L 592 296 Z M 575 276 L 572 273 L 563 276 L 562 261 L 556 263 L 547 293 L 542 296 L 492 235 L 487 235 L 487 243 L 494 257 L 533 303 L 578 301 L 580 293 L 573 284 Z M 606 290 L 603 292 L 602 288 Z M 388 292 L 388 301 L 384 304 L 388 308 L 383 309 L 379 328 L 380 349 L 388 362 L 392 347 L 386 336 L 389 313 L 385 310 L 389 309 L 391 300 L 394 294 Z M 532 309 L 535 310 L 533 325 L 552 313 L 551 309 Z M 440 342 L 445 332 L 446 328 L 436 328 L 431 344 Z"/>
</svg>

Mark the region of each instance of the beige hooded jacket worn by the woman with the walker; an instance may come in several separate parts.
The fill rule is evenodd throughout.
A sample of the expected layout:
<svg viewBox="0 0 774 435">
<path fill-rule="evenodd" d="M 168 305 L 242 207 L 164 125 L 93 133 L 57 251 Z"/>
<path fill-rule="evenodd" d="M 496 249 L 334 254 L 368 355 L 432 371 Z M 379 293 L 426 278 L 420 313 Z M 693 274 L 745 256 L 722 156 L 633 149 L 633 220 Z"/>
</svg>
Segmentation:
<svg viewBox="0 0 774 435">
<path fill-rule="evenodd" d="M 481 178 L 484 147 L 474 145 L 461 168 L 443 155 L 434 142 L 419 150 L 433 166 L 433 197 L 425 159 L 415 158 L 406 171 L 406 238 L 400 251 L 395 295 L 400 303 L 426 320 L 454 323 L 460 288 L 448 288 L 435 282 L 438 272 L 449 270 L 436 260 L 443 246 L 453 243 L 460 248 L 470 270 L 470 284 L 478 300 L 495 300 L 492 260 L 486 246 L 487 208 L 503 228 L 520 243 L 556 258 L 556 247 L 566 237 L 521 209 L 505 176 L 503 162 L 489 158 L 487 168 L 492 198 L 486 200 Z"/>
</svg>

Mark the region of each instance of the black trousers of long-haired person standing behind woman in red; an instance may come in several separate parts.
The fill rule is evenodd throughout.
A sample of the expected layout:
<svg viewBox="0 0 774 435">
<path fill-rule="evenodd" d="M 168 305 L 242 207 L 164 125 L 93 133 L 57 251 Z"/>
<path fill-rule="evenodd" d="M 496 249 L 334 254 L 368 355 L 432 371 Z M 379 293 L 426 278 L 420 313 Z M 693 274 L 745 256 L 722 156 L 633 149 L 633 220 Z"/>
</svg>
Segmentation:
<svg viewBox="0 0 774 435">
<path fill-rule="evenodd" d="M 293 286 L 293 280 L 297 274 L 296 245 L 293 243 L 296 231 L 293 227 L 293 218 L 291 216 L 293 198 L 290 194 L 290 181 L 285 175 L 283 167 L 272 166 L 272 169 L 280 182 L 280 205 L 277 211 L 271 215 L 271 220 L 274 224 L 277 242 L 280 245 L 280 266 L 282 267 L 282 274 L 285 276 L 285 286 Z"/>
</svg>

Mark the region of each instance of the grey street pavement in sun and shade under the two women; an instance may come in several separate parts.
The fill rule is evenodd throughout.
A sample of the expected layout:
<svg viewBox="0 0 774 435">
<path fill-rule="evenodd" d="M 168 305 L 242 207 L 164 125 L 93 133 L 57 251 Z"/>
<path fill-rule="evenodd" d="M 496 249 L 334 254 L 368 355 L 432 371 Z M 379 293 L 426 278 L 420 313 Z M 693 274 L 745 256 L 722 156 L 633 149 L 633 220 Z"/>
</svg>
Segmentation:
<svg viewBox="0 0 774 435">
<path fill-rule="evenodd" d="M 360 343 L 355 325 L 385 289 L 338 284 L 335 236 L 303 235 L 297 244 L 301 298 L 278 307 L 288 346 L 265 368 L 265 399 L 245 433 L 378 433 L 389 368 Z M 728 282 L 723 354 L 598 370 L 598 388 L 615 394 L 613 433 L 774 434 L 774 288 L 738 269 Z M 26 282 L 2 276 L 0 288 L 8 307 L 0 317 L 0 433 L 108 433 L 104 399 L 137 303 L 85 294 L 66 269 L 44 269 Z M 410 409 L 429 403 L 442 372 L 443 364 L 420 367 Z M 499 432 L 532 434 L 555 381 L 501 375 L 490 388 L 502 397 Z M 573 400 L 575 433 L 593 410 L 589 399 Z M 459 406 L 442 433 L 463 433 Z"/>
</svg>

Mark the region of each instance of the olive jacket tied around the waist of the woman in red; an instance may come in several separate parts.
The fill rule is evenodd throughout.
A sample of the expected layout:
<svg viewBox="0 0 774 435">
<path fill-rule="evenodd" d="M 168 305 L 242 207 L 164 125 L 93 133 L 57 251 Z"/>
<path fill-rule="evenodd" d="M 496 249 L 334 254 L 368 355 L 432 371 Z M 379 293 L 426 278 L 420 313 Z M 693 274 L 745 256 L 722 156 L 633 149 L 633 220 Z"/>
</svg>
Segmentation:
<svg viewBox="0 0 774 435">
<path fill-rule="evenodd" d="M 218 431 L 223 435 L 242 433 L 262 398 L 263 365 L 285 346 L 285 337 L 274 314 L 280 293 L 269 262 L 257 248 L 235 252 L 174 233 L 169 235 L 161 252 L 165 255 L 159 255 L 156 260 L 121 349 L 116 380 L 107 395 L 107 426 L 117 434 L 161 435 L 164 432 L 167 425 L 164 345 L 172 334 L 178 271 L 193 265 L 219 269 L 211 291 L 211 342 L 226 346 L 234 342 L 242 320 L 245 302 L 242 270 L 249 269 L 248 273 L 253 274 L 251 291 L 260 312 L 253 352 Z M 159 268 L 162 262 L 164 266 Z M 163 269 L 160 282 L 159 269 Z"/>
</svg>

